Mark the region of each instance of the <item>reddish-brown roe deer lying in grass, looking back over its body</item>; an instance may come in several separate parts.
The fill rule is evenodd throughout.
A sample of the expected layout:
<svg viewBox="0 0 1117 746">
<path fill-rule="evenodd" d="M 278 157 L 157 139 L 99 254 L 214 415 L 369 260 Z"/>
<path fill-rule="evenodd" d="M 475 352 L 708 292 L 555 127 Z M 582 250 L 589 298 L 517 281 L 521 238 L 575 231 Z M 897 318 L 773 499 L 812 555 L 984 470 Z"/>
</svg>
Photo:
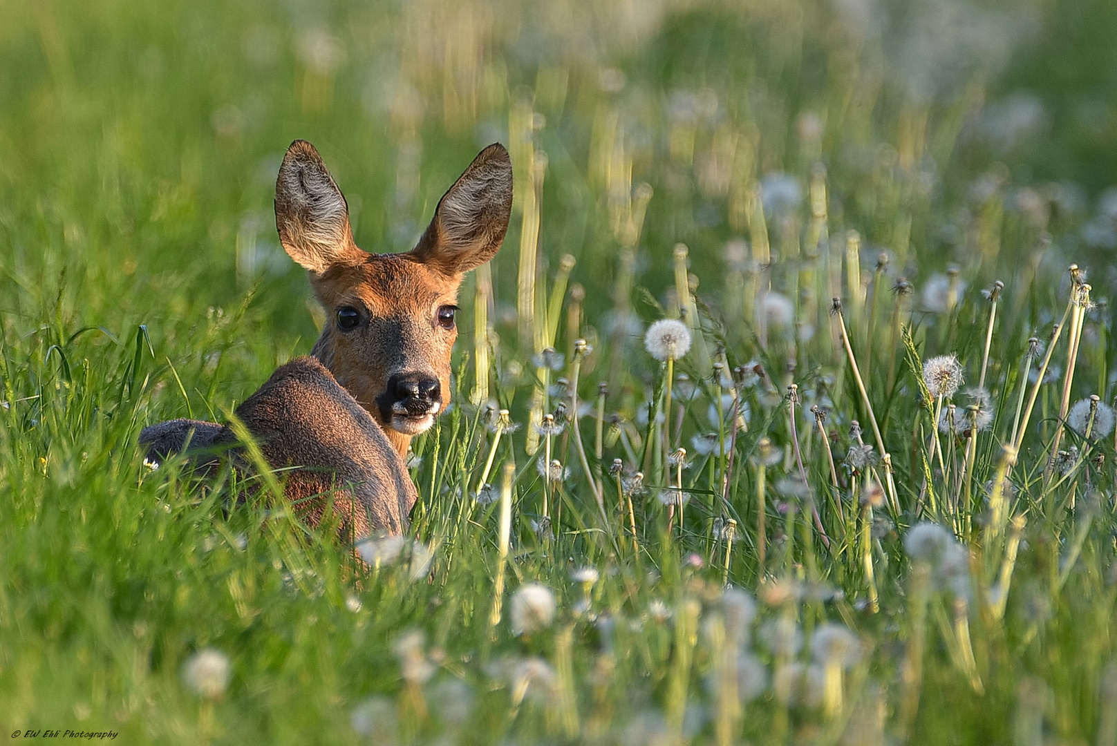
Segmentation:
<svg viewBox="0 0 1117 746">
<path fill-rule="evenodd" d="M 326 324 L 311 356 L 281 365 L 236 415 L 273 468 L 295 467 L 284 490 L 308 524 L 321 522 L 335 490 L 345 539 L 399 534 L 417 499 L 408 446 L 450 400 L 458 286 L 496 254 L 508 228 L 508 152 L 499 144 L 481 151 L 407 254 L 357 248 L 345 198 L 305 141 L 292 143 L 279 166 L 275 209 L 279 240 L 309 270 Z M 155 462 L 236 442 L 228 424 L 198 420 L 140 433 Z"/>
</svg>

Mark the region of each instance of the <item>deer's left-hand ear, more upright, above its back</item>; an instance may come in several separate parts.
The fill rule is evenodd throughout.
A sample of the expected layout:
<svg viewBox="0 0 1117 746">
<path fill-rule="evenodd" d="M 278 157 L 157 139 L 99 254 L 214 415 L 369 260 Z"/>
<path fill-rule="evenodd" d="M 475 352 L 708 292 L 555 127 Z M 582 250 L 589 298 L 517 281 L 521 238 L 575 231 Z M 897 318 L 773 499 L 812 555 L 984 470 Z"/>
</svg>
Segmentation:
<svg viewBox="0 0 1117 746">
<path fill-rule="evenodd" d="M 305 140 L 290 144 L 279 166 L 276 228 L 290 258 L 318 275 L 364 254 L 353 243 L 345 198 Z"/>
</svg>

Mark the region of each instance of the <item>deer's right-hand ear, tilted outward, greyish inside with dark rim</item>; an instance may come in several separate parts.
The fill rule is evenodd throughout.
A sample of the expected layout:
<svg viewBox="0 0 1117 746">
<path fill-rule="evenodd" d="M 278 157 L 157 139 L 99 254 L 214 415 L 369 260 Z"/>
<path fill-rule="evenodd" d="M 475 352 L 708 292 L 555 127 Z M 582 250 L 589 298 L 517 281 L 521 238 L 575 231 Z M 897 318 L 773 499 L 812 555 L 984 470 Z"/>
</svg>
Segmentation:
<svg viewBox="0 0 1117 746">
<path fill-rule="evenodd" d="M 454 276 L 496 254 L 512 213 L 512 161 L 504 145 L 489 145 L 438 201 L 435 218 L 411 251 L 423 264 Z"/>
</svg>

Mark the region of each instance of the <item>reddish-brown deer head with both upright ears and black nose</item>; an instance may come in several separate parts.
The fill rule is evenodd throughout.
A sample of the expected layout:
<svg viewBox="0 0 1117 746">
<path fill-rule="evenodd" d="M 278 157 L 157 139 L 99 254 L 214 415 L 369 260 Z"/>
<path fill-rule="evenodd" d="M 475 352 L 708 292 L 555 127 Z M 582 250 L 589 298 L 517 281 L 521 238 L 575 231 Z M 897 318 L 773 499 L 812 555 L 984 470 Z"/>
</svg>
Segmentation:
<svg viewBox="0 0 1117 746">
<path fill-rule="evenodd" d="M 279 240 L 326 312 L 312 354 L 401 455 L 450 401 L 458 286 L 496 254 L 510 211 L 508 152 L 489 145 L 439 200 L 414 249 L 369 254 L 353 242 L 345 198 L 311 143 L 292 143 L 279 166 Z"/>
</svg>

